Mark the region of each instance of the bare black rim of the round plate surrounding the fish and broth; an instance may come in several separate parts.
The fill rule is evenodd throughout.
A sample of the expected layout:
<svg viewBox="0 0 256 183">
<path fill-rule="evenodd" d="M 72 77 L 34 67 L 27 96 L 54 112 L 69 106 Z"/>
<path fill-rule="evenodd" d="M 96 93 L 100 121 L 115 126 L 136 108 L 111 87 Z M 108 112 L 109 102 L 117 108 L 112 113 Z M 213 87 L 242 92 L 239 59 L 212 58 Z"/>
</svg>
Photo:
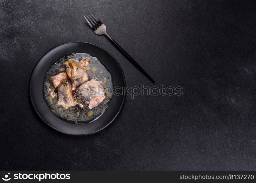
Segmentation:
<svg viewBox="0 0 256 183">
<path fill-rule="evenodd" d="M 56 117 L 43 98 L 44 76 L 49 67 L 60 57 L 72 53 L 88 53 L 96 57 L 111 73 L 114 87 L 125 87 L 125 76 L 122 68 L 110 53 L 103 48 L 87 42 L 68 42 L 58 45 L 45 53 L 36 64 L 30 79 L 30 98 L 37 114 L 52 128 L 72 135 L 93 134 L 107 127 L 120 112 L 125 96 L 113 95 L 105 112 L 91 123 L 71 124 Z"/>
</svg>

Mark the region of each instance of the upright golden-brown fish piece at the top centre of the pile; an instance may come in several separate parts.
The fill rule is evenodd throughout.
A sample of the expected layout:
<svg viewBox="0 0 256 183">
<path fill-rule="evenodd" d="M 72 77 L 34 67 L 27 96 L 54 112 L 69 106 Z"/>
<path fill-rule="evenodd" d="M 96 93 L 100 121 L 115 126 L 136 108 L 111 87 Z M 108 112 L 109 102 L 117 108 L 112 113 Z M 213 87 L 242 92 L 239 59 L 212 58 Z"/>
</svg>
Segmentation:
<svg viewBox="0 0 256 183">
<path fill-rule="evenodd" d="M 75 91 L 78 86 L 84 84 L 89 80 L 87 70 L 85 70 L 81 63 L 68 59 L 64 62 L 66 66 L 67 75 L 72 83 L 72 90 Z"/>
</svg>

